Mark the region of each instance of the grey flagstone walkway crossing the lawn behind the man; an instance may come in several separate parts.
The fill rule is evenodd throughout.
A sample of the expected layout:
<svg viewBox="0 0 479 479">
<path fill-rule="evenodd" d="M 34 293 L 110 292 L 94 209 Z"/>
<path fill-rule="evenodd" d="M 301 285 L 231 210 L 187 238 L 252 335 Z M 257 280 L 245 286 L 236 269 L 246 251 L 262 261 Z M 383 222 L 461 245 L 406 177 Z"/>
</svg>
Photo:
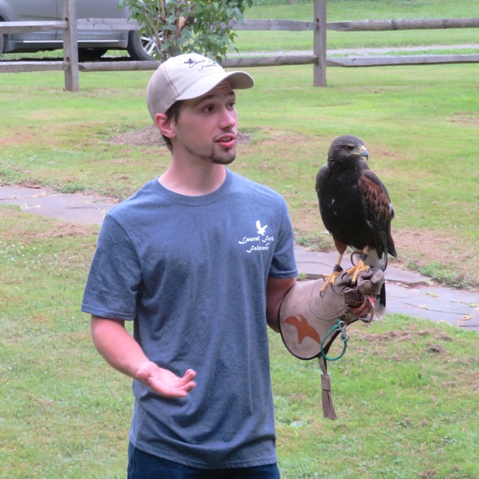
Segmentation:
<svg viewBox="0 0 479 479">
<path fill-rule="evenodd" d="M 0 205 L 18 205 L 23 211 L 66 222 L 101 224 L 114 206 L 107 198 L 60 194 L 46 188 L 0 186 Z M 295 247 L 298 270 L 309 279 L 331 272 L 336 253 L 312 253 Z M 434 285 L 426 276 L 388 266 L 387 312 L 403 313 L 433 322 L 445 321 L 479 331 L 479 293 Z"/>
</svg>

